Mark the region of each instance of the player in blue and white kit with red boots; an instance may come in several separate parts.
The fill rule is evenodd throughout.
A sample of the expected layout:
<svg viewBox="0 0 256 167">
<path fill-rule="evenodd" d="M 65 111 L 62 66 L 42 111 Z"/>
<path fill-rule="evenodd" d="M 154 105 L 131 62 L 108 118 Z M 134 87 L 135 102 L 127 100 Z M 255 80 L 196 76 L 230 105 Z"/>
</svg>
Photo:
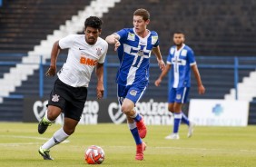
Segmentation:
<svg viewBox="0 0 256 167">
<path fill-rule="evenodd" d="M 150 56 L 157 56 L 161 69 L 165 64 L 159 48 L 158 34 L 147 29 L 150 14 L 145 9 L 133 13 L 133 28 L 124 28 L 106 37 L 109 44 L 114 44 L 118 52 L 120 67 L 116 75 L 117 96 L 122 112 L 126 114 L 127 123 L 136 142 L 135 160 L 143 160 L 146 144 L 143 138 L 147 129 L 143 116 L 134 109 L 149 83 Z"/>
</svg>

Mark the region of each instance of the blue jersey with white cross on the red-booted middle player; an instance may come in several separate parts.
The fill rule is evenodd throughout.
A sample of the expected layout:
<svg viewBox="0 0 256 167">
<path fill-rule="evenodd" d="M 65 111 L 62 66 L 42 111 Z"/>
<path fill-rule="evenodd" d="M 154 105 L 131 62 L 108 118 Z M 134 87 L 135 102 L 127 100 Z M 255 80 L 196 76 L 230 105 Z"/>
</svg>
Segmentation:
<svg viewBox="0 0 256 167">
<path fill-rule="evenodd" d="M 117 50 L 120 67 L 116 74 L 116 83 L 124 86 L 148 84 L 150 56 L 153 47 L 159 44 L 158 34 L 149 31 L 149 34 L 142 38 L 133 28 L 124 28 L 115 34 L 119 35 L 121 44 Z"/>
</svg>

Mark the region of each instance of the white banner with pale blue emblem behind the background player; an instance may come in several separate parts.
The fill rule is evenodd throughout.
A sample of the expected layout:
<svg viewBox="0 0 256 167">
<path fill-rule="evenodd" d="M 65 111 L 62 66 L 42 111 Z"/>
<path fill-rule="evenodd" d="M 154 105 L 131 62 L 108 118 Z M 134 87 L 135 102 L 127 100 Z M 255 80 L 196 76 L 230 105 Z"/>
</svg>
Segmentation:
<svg viewBox="0 0 256 167">
<path fill-rule="evenodd" d="M 203 126 L 247 126 L 249 103 L 245 101 L 190 101 L 189 119 Z"/>
</svg>

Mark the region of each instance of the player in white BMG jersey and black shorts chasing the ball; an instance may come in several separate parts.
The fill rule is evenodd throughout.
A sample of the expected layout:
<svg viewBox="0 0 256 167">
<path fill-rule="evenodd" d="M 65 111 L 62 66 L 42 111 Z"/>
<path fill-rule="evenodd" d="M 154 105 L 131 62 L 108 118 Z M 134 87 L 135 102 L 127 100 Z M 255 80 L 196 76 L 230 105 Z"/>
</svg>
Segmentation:
<svg viewBox="0 0 256 167">
<path fill-rule="evenodd" d="M 68 35 L 56 41 L 53 45 L 51 65 L 46 72 L 47 76 L 56 74 L 56 60 L 60 50 L 69 49 L 69 51 L 65 64 L 57 73 L 58 78 L 50 93 L 47 111 L 38 124 L 38 133 L 44 133 L 60 113 L 64 113 L 64 125 L 39 148 L 39 153 L 44 160 L 53 160 L 49 154 L 50 148 L 64 142 L 74 133 L 84 111 L 87 87 L 95 67 L 98 79 L 97 98 L 101 99 L 103 97 L 103 63 L 108 44 L 99 37 L 102 32 L 101 26 L 101 19 L 90 16 L 84 22 L 84 34 Z"/>
</svg>

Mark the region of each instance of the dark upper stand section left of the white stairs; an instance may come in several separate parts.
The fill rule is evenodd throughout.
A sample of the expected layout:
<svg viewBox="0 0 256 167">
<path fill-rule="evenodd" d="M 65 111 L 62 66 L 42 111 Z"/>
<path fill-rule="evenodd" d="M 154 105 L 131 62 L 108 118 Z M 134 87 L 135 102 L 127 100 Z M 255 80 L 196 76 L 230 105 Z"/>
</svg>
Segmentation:
<svg viewBox="0 0 256 167">
<path fill-rule="evenodd" d="M 83 0 L 4 0 L 0 10 L 1 53 L 27 54 L 89 3 Z"/>
</svg>

